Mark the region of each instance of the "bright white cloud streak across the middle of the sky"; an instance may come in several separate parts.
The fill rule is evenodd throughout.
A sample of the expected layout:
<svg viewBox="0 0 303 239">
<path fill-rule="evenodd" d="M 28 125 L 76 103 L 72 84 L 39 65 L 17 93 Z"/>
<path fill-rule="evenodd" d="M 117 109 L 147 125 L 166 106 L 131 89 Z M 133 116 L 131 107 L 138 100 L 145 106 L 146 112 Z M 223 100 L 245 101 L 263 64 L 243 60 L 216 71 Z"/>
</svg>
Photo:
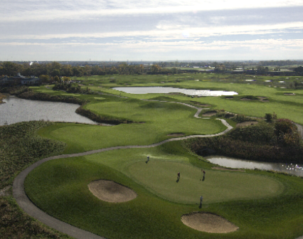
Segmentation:
<svg viewBox="0 0 303 239">
<path fill-rule="evenodd" d="M 66 33 L 66 34 L 43 34 L 43 35 L 1 35 L 0 39 L 19 40 L 46 40 L 55 38 L 111 38 L 111 37 L 148 37 L 151 39 L 183 39 L 184 33 L 188 38 L 208 37 L 208 36 L 231 36 L 231 35 L 258 35 L 265 33 L 284 33 L 289 30 L 303 29 L 303 21 L 279 23 L 270 25 L 247 25 L 247 26 L 217 26 L 190 28 L 179 25 L 157 26 L 158 29 L 151 31 L 116 31 L 116 32 L 96 32 L 96 33 Z"/>
</svg>

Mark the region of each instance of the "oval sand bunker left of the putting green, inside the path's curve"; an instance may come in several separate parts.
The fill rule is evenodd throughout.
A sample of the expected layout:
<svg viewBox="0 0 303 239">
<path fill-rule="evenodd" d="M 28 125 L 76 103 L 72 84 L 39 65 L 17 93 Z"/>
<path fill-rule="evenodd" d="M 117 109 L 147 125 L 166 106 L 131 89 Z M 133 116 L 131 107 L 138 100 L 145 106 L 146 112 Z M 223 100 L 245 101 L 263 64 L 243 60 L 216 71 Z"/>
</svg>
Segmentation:
<svg viewBox="0 0 303 239">
<path fill-rule="evenodd" d="M 137 197 L 137 193 L 132 191 L 132 189 L 114 181 L 92 181 L 88 184 L 88 188 L 97 198 L 110 203 L 123 203 Z"/>
</svg>

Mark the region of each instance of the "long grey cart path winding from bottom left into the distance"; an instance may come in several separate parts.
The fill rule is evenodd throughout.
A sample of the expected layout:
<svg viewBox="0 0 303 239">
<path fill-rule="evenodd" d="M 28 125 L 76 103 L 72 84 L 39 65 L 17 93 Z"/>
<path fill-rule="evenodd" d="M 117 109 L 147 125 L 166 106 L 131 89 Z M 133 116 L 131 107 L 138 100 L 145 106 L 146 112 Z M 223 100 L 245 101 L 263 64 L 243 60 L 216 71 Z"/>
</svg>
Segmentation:
<svg viewBox="0 0 303 239">
<path fill-rule="evenodd" d="M 158 100 L 146 100 L 146 101 L 158 101 Z M 160 102 L 167 102 L 167 101 L 160 101 Z M 198 116 L 201 113 L 201 110 L 207 110 L 206 108 L 195 107 L 193 105 L 188 105 L 188 104 L 181 103 L 181 102 L 174 102 L 174 103 L 178 103 L 181 105 L 186 105 L 188 107 L 195 108 L 197 110 L 197 112 L 194 115 L 194 117 L 196 117 L 196 118 L 201 118 Z M 205 119 L 207 119 L 207 118 L 205 118 Z M 26 192 L 24 189 L 24 181 L 26 179 L 26 176 L 33 169 L 36 169 L 36 167 L 38 167 L 39 165 L 43 164 L 46 161 L 50 161 L 53 159 L 64 159 L 64 158 L 70 158 L 70 157 L 75 157 L 75 156 L 85 156 L 85 155 L 96 154 L 96 153 L 106 152 L 106 151 L 116 150 L 116 149 L 152 148 L 152 147 L 157 147 L 161 144 L 165 144 L 166 142 L 173 142 L 173 141 L 177 141 L 177 140 L 190 139 L 190 138 L 195 138 L 195 137 L 216 137 L 216 136 L 225 134 L 225 133 L 229 132 L 231 129 L 233 129 L 233 127 L 231 127 L 228 124 L 228 122 L 225 121 L 225 119 L 218 119 L 218 120 L 220 120 L 227 127 L 227 129 L 225 129 L 223 132 L 220 132 L 218 134 L 189 135 L 186 137 L 166 139 L 164 141 L 161 141 L 161 142 L 158 142 L 155 144 L 149 144 L 149 145 L 129 145 L 129 146 L 109 147 L 109 148 L 105 148 L 105 149 L 96 149 L 96 150 L 91 150 L 88 152 L 83 152 L 83 153 L 78 153 L 78 154 L 62 154 L 62 155 L 58 155 L 58 156 L 51 156 L 46 159 L 41 159 L 40 161 L 37 161 L 35 164 L 28 166 L 28 168 L 21 171 L 21 173 L 18 174 L 18 176 L 16 176 L 16 178 L 14 179 L 14 184 L 13 184 L 13 196 L 16 199 L 16 203 L 18 203 L 18 206 L 20 206 L 20 208 L 22 208 L 23 211 L 28 213 L 29 216 L 32 216 L 33 218 L 36 218 L 38 221 L 41 221 L 42 223 L 48 225 L 50 228 L 54 228 L 55 230 L 58 230 L 61 233 L 65 233 L 65 234 L 70 235 L 73 238 L 77 238 L 77 239 L 105 239 L 99 235 L 90 233 L 87 230 L 82 230 L 80 228 L 76 228 L 73 225 L 64 223 L 63 221 L 53 218 L 52 216 L 49 216 L 47 213 L 43 212 L 41 209 L 36 207 L 35 204 L 33 204 L 31 202 L 31 200 L 26 196 Z M 297 239 L 303 239 L 303 237 L 300 237 Z"/>
</svg>

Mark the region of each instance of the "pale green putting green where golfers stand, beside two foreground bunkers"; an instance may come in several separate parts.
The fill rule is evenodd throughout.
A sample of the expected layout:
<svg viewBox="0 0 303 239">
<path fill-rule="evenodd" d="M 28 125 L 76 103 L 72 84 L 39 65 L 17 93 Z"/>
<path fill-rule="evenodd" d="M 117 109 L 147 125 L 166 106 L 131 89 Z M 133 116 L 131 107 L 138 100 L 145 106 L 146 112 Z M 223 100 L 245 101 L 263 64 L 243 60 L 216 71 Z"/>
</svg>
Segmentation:
<svg viewBox="0 0 303 239">
<path fill-rule="evenodd" d="M 137 162 L 128 170 L 139 184 L 177 203 L 197 203 L 201 195 L 205 203 L 258 199 L 277 196 L 284 188 L 267 176 L 230 171 L 207 170 L 203 181 L 201 169 L 178 162 Z"/>
</svg>

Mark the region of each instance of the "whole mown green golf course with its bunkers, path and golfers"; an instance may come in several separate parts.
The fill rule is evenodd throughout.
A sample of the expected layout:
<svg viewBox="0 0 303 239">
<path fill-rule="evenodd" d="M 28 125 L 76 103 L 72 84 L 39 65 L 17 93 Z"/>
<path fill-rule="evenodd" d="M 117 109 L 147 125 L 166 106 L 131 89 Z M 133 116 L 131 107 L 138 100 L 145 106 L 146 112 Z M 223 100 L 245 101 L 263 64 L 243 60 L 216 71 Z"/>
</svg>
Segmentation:
<svg viewBox="0 0 303 239">
<path fill-rule="evenodd" d="M 53 122 L 39 128 L 38 137 L 65 147 L 60 155 L 42 159 L 16 177 L 13 193 L 21 208 L 26 208 L 20 203 L 26 195 L 66 227 L 73 225 L 107 239 L 295 239 L 303 235 L 302 178 L 215 168 L 188 147 L 189 139 L 215 138 L 237 128 L 233 117 L 216 113 L 203 117 L 210 111 L 253 117 L 260 125 L 267 124 L 261 119 L 266 113 L 275 112 L 278 118 L 302 125 L 303 90 L 277 87 L 280 77 L 271 77 L 268 84 L 264 77 L 248 85 L 245 79 L 218 81 L 206 73 L 73 80 L 81 80 L 89 93 L 69 94 L 52 90 L 53 85 L 31 89 L 85 100 L 84 110 L 122 123 Z M 121 86 L 224 90 L 238 95 L 190 97 L 112 89 Z M 31 215 L 31 210 L 24 210 Z M 43 223 L 48 225 L 47 220 Z M 55 229 L 74 236 L 64 229 L 65 224 L 61 228 Z"/>
</svg>

